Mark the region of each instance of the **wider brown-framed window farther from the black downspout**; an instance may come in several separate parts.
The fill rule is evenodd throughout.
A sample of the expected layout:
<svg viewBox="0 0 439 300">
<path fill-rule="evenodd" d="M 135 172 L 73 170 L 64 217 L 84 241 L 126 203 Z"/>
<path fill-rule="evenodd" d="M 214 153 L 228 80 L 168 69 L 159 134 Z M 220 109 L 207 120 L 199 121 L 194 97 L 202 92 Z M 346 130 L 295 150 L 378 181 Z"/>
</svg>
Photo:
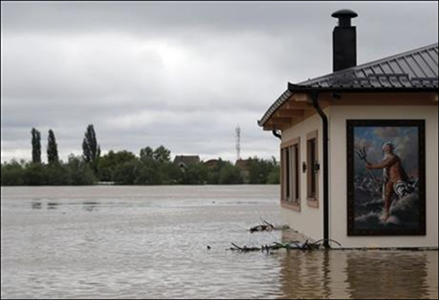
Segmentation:
<svg viewBox="0 0 439 300">
<path fill-rule="evenodd" d="M 300 139 L 281 147 L 282 206 L 300 211 Z"/>
</svg>

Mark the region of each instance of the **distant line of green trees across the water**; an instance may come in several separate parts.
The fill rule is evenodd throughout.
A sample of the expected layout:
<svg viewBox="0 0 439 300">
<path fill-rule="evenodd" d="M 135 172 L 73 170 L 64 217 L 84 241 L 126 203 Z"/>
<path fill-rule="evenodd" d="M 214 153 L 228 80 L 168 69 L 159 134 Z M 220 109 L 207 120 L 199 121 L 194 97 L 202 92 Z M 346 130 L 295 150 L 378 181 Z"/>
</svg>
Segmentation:
<svg viewBox="0 0 439 300">
<path fill-rule="evenodd" d="M 1 164 L 1 185 L 94 185 L 112 182 L 116 185 L 239 185 L 278 184 L 280 167 L 276 159 L 248 160 L 241 167 L 219 159 L 214 165 L 203 162 L 181 167 L 171 160 L 164 146 L 142 148 L 139 154 L 122 150 L 101 155 L 94 131 L 89 125 L 83 138 L 83 154 L 70 154 L 68 161 L 59 160 L 55 133 L 49 130 L 47 163 L 41 159 L 41 134 L 31 130 L 32 161 L 10 161 Z"/>
</svg>

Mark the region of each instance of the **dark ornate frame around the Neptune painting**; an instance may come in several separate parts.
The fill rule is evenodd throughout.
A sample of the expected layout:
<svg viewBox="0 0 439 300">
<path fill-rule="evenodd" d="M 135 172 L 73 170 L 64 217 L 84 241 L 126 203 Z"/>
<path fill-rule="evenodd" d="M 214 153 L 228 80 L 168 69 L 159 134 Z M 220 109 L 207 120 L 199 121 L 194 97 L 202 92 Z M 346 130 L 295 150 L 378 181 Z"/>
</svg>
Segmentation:
<svg viewBox="0 0 439 300">
<path fill-rule="evenodd" d="M 355 129 L 358 127 L 410 127 L 418 129 L 418 228 L 356 228 Z M 425 120 L 347 120 L 347 236 L 425 236 L 426 231 Z"/>
</svg>

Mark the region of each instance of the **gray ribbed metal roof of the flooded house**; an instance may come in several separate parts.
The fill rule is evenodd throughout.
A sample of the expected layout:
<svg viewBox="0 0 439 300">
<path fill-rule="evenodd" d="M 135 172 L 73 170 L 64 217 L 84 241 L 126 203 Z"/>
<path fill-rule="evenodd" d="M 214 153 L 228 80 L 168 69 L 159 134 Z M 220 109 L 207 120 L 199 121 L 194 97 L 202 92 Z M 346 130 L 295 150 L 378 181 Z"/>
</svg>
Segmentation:
<svg viewBox="0 0 439 300">
<path fill-rule="evenodd" d="M 438 92 L 438 43 L 399 55 L 289 83 L 288 90 L 271 105 L 258 122 L 263 126 L 296 92 Z"/>
</svg>

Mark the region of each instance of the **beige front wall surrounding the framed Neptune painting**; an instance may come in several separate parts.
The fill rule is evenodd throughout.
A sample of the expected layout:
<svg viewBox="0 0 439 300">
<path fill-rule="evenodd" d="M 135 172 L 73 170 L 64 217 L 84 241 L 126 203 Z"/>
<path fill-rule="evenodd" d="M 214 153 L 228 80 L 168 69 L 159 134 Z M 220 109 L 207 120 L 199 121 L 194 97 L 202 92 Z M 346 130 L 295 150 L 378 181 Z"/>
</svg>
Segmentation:
<svg viewBox="0 0 439 300">
<path fill-rule="evenodd" d="M 426 120 L 427 236 L 347 236 L 348 119 Z M 343 247 L 438 247 L 438 209 L 438 106 L 331 107 L 330 238 L 339 241 Z"/>
</svg>

